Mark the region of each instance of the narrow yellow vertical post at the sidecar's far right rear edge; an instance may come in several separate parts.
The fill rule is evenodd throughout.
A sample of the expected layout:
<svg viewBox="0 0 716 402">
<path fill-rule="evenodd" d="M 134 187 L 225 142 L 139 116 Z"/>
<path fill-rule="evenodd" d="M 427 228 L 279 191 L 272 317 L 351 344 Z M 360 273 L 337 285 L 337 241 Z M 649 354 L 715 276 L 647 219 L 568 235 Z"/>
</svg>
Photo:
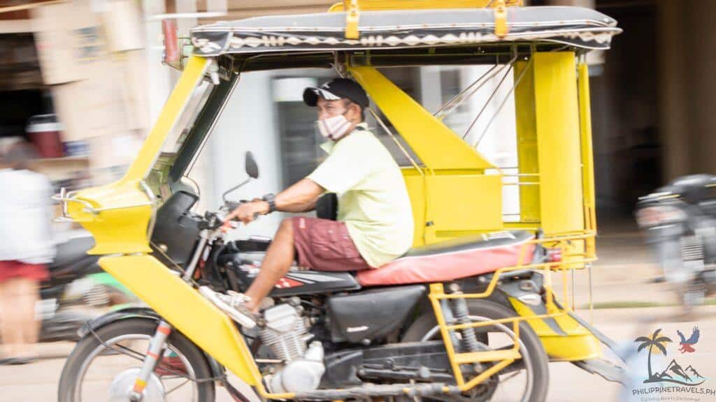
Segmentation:
<svg viewBox="0 0 716 402">
<path fill-rule="evenodd" d="M 589 101 L 589 69 L 579 64 L 579 132 L 581 134 L 582 188 L 584 190 L 584 227 L 596 230 L 594 201 L 594 152 L 591 143 L 591 102 Z M 591 242 L 593 243 L 593 241 Z M 594 248 L 594 244 L 589 248 Z"/>
</svg>

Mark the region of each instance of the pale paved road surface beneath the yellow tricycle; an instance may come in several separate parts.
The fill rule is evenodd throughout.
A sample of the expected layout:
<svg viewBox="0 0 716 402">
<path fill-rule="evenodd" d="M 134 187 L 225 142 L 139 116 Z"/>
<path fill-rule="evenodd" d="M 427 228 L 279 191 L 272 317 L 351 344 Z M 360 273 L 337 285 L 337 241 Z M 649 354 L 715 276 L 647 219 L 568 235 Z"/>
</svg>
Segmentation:
<svg viewBox="0 0 716 402">
<path fill-rule="evenodd" d="M 675 343 L 667 345 L 669 358 L 675 357 L 683 367 L 690 365 L 698 368 L 702 376 L 709 377 L 703 386 L 716 388 L 716 307 L 705 307 L 697 311 L 697 320 L 680 321 L 674 319 L 674 308 L 632 308 L 614 310 L 595 310 L 594 323 L 604 333 L 619 343 L 635 350 L 634 338 L 652 333 L 662 328 L 662 333 L 677 340 L 676 330 L 687 333 L 698 325 L 701 331 L 700 342 L 695 345 L 697 351 L 689 356 L 677 352 Z M 589 317 L 586 311 L 580 312 L 584 318 Z M 0 402 L 4 401 L 54 401 L 56 399 L 57 381 L 64 363 L 63 356 L 69 353 L 72 345 L 55 343 L 43 345 L 42 361 L 27 366 L 0 366 Z M 666 366 L 664 358 L 654 358 L 652 364 Z M 637 371 L 644 371 L 646 354 L 637 355 Z M 551 363 L 550 391 L 548 401 L 617 401 L 623 388 L 615 383 L 604 381 L 598 376 L 581 371 L 571 363 Z M 712 378 L 712 379 L 711 379 Z M 637 387 L 638 388 L 638 387 Z M 630 388 L 631 389 L 631 388 Z M 680 395 L 680 394 L 679 394 Z M 689 396 L 684 399 L 672 398 L 672 401 L 715 401 L 716 396 Z M 672 395 L 672 397 L 674 397 Z M 97 401 L 102 400 L 101 394 Z M 644 396 L 637 396 L 632 401 L 647 401 Z M 663 399 L 664 401 L 667 399 Z M 220 389 L 219 401 L 231 401 Z M 654 399 L 658 401 L 658 399 Z"/>
</svg>

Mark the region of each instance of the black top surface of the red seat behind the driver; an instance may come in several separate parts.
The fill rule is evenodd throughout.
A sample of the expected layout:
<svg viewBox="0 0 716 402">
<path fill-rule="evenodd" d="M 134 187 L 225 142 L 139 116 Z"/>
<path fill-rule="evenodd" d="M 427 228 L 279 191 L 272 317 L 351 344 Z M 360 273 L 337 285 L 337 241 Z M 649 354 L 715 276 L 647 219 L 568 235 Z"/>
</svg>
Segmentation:
<svg viewBox="0 0 716 402">
<path fill-rule="evenodd" d="M 487 247 L 503 247 L 506 245 L 514 245 L 534 237 L 533 233 L 524 230 L 514 230 L 511 232 L 492 232 L 483 235 L 458 237 L 457 239 L 447 240 L 432 245 L 411 248 L 400 258 L 406 257 L 425 257 L 427 255 L 455 253 L 465 250 L 477 250 Z"/>
</svg>

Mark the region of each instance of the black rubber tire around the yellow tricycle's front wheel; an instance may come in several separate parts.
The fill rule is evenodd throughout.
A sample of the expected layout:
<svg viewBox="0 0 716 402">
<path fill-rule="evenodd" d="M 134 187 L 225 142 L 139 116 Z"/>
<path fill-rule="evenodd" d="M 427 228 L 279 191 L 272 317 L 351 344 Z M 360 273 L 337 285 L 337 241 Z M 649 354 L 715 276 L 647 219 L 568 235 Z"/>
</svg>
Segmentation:
<svg viewBox="0 0 716 402">
<path fill-rule="evenodd" d="M 102 340 L 130 334 L 152 336 L 157 330 L 157 325 L 157 321 L 147 318 L 128 318 L 109 323 L 97 329 L 95 333 Z M 167 343 L 176 348 L 187 359 L 196 378 L 211 378 L 213 376 L 211 366 L 206 361 L 204 353 L 184 335 L 178 331 L 172 331 L 169 338 L 167 338 Z M 100 346 L 100 342 L 91 333 L 84 336 L 75 345 L 72 353 L 69 354 L 67 361 L 64 363 L 64 368 L 62 368 L 57 401 L 74 402 L 77 376 L 82 368 L 82 363 L 92 353 L 92 350 L 95 350 L 98 346 Z M 216 388 L 214 388 L 213 381 L 203 381 L 196 385 L 198 402 L 214 402 L 216 400 Z"/>
</svg>

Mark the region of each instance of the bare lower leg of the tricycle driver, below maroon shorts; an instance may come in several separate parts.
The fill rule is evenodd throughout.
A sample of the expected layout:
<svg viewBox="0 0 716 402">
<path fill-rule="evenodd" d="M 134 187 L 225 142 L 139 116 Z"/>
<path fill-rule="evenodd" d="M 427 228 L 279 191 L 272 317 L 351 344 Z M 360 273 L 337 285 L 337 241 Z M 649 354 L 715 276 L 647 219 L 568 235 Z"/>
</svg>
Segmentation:
<svg viewBox="0 0 716 402">
<path fill-rule="evenodd" d="M 246 295 L 251 298 L 251 301 L 246 304 L 247 308 L 254 312 L 258 311 L 261 300 L 271 293 L 274 285 L 284 278 L 284 275 L 291 269 L 294 253 L 293 222 L 290 219 L 284 219 L 269 250 L 266 251 L 261 270 L 246 291 Z"/>
</svg>

